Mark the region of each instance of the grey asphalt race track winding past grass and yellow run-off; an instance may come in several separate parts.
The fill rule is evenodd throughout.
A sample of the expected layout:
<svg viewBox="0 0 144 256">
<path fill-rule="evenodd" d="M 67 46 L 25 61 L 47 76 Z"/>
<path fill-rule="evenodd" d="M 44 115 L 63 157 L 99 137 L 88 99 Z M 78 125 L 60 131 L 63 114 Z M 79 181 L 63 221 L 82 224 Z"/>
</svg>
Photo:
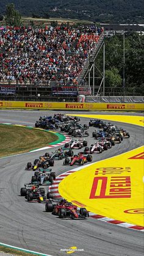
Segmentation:
<svg viewBox="0 0 144 256">
<path fill-rule="evenodd" d="M 70 113 L 73 114 L 73 112 Z M 96 114 L 96 112 L 90 113 Z M 34 125 L 40 115 L 46 114 L 52 115 L 54 112 L 0 111 L 0 122 Z M 81 112 L 81 114 L 88 113 Z M 98 112 L 98 114 L 107 113 Z M 128 115 L 128 113 L 122 114 Z M 88 119 L 81 118 L 80 123 L 88 124 Z M 120 155 L 120 153 L 143 145 L 143 127 L 117 122 L 115 124 L 126 128 L 131 137 L 124 139 L 121 145 L 115 145 L 107 152 L 93 154 L 93 161 Z M 94 129 L 90 128 L 89 132 Z M 88 145 L 92 142 L 91 133 L 88 137 Z M 51 150 L 46 151 L 51 152 Z M 77 256 L 143 255 L 143 232 L 107 224 L 92 218 L 86 220 L 59 219 L 51 213 L 46 213 L 44 204 L 29 203 L 24 197 L 20 197 L 20 188 L 24 183 L 29 183 L 33 174 L 33 172 L 24 170 L 26 163 L 44 153 L 45 151 L 27 153 L 0 159 L 0 242 L 53 256 L 67 255 L 60 249 L 68 249 L 71 246 L 84 249 L 83 252 L 75 252 L 74 255 Z M 52 170 L 56 171 L 57 175 L 74 168 L 63 166 L 62 163 L 63 160 L 55 161 Z"/>
</svg>

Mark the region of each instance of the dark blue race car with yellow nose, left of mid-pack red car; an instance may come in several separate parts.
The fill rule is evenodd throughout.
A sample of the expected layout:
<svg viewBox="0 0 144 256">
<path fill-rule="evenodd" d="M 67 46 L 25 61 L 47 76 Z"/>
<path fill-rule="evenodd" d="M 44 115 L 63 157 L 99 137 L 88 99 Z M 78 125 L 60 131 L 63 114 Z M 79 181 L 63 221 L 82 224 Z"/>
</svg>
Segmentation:
<svg viewBox="0 0 144 256">
<path fill-rule="evenodd" d="M 39 159 L 35 159 L 33 165 L 31 162 L 27 163 L 26 170 L 36 170 L 40 167 L 47 169 L 49 166 L 54 166 L 54 160 L 47 159 L 44 156 L 40 156 Z"/>
</svg>

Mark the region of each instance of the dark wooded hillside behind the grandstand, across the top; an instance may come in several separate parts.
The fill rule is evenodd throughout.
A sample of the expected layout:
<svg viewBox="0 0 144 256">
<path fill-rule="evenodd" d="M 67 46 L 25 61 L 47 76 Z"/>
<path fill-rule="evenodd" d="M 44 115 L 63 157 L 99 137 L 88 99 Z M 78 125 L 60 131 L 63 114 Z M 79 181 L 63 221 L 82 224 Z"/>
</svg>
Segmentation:
<svg viewBox="0 0 144 256">
<path fill-rule="evenodd" d="M 13 2 L 23 16 L 78 18 L 105 23 L 143 23 L 143 0 L 1 0 Z"/>
</svg>

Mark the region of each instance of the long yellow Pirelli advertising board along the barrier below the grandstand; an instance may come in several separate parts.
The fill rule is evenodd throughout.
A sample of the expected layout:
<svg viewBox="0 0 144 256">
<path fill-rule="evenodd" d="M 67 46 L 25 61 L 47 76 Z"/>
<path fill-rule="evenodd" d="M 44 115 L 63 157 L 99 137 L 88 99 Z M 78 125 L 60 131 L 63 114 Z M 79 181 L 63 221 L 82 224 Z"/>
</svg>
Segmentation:
<svg viewBox="0 0 144 256">
<path fill-rule="evenodd" d="M 41 101 L 0 101 L 0 108 L 143 111 L 143 103 L 70 103 Z"/>
</svg>

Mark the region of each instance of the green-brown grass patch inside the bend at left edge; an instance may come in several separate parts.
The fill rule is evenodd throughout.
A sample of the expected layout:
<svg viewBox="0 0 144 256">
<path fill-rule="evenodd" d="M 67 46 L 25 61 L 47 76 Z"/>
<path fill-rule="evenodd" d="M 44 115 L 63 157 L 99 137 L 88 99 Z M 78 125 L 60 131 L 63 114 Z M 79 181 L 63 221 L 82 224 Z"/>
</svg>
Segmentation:
<svg viewBox="0 0 144 256">
<path fill-rule="evenodd" d="M 58 137 L 46 131 L 14 125 L 0 125 L 0 157 L 46 147 Z"/>
</svg>

